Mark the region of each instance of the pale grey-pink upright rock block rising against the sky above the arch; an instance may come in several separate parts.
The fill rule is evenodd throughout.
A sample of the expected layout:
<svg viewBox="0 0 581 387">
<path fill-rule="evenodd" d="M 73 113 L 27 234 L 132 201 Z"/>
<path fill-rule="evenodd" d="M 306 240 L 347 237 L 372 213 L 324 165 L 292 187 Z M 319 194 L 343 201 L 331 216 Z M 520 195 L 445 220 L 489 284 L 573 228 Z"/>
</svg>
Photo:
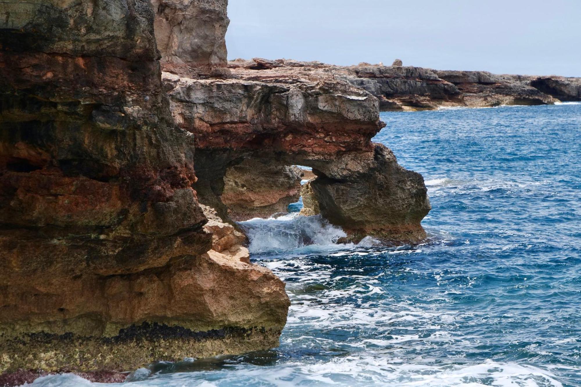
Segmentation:
<svg viewBox="0 0 581 387">
<path fill-rule="evenodd" d="M 226 77 L 224 36 L 228 0 L 151 0 L 164 71 L 189 77 Z"/>
</svg>

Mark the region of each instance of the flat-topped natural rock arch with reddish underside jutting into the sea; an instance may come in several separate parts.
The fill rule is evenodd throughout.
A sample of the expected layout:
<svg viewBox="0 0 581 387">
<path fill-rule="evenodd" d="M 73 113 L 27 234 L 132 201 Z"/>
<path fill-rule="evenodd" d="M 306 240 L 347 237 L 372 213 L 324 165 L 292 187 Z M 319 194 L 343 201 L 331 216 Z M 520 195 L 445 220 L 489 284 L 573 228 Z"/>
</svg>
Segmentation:
<svg viewBox="0 0 581 387">
<path fill-rule="evenodd" d="M 354 239 L 425 238 L 420 221 L 430 206 L 423 179 L 371 143 L 384 125 L 374 96 L 316 64 L 255 58 L 230 67 L 228 80 L 163 74 L 175 121 L 194 134 L 202 202 L 223 217 L 242 218 L 230 209 L 242 201 L 259 213 L 252 200 L 270 196 L 271 188 L 242 195 L 228 174 L 244 160 L 254 160 L 255 175 L 270 174 L 261 166 L 298 164 L 317 175 L 311 187 L 322 216 Z"/>
</svg>

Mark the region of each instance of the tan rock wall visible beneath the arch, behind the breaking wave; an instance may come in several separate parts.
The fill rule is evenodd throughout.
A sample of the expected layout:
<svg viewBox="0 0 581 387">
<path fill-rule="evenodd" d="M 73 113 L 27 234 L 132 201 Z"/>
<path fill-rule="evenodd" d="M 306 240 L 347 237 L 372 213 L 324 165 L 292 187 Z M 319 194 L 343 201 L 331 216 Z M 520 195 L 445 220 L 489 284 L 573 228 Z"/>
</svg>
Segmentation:
<svg viewBox="0 0 581 387">
<path fill-rule="evenodd" d="M 246 159 L 226 170 L 220 198 L 234 221 L 286 213 L 300 198 L 302 174 L 297 167 Z"/>
</svg>

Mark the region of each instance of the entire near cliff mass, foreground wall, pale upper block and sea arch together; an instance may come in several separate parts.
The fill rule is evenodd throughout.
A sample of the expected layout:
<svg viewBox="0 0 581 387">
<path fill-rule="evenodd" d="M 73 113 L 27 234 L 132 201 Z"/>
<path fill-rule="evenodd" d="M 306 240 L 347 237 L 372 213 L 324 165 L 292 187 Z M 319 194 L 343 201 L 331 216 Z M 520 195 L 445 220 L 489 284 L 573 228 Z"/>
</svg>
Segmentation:
<svg viewBox="0 0 581 387">
<path fill-rule="evenodd" d="M 296 164 L 352 240 L 425 238 L 378 99 L 319 64 L 228 65 L 226 8 L 0 3 L 0 385 L 277 346 L 284 284 L 234 220 L 286 210 Z"/>
</svg>

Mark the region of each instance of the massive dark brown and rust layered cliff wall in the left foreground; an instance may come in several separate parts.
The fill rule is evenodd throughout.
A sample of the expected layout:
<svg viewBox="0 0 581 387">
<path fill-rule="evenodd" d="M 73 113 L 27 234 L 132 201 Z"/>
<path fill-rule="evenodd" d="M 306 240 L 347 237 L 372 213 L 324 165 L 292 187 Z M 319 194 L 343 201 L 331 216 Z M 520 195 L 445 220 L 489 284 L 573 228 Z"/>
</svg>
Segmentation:
<svg viewBox="0 0 581 387">
<path fill-rule="evenodd" d="M 0 7 L 0 374 L 278 345 L 284 284 L 198 203 L 149 1 Z"/>
</svg>

